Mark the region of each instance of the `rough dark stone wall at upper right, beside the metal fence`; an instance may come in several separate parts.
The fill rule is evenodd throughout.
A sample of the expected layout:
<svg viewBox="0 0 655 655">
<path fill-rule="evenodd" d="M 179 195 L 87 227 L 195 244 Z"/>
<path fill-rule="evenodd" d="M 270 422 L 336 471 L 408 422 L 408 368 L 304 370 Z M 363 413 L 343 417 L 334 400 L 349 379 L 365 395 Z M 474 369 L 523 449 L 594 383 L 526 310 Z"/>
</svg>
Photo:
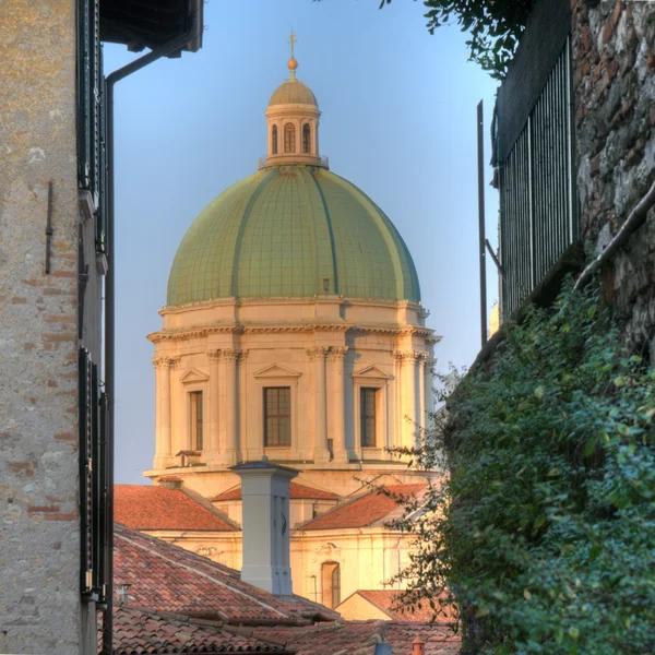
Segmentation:
<svg viewBox="0 0 655 655">
<path fill-rule="evenodd" d="M 655 179 L 655 2 L 572 0 L 577 188 L 587 254 Z M 606 267 L 628 343 L 655 361 L 655 210 Z"/>
</svg>

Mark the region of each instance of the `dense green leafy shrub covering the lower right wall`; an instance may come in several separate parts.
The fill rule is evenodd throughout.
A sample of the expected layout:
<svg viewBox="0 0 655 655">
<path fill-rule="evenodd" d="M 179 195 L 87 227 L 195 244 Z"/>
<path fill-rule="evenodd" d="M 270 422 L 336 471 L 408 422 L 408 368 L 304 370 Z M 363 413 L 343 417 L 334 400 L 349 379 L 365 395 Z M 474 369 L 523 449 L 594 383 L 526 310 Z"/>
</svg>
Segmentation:
<svg viewBox="0 0 655 655">
<path fill-rule="evenodd" d="M 420 544 L 405 603 L 450 588 L 469 653 L 655 653 L 654 416 L 593 294 L 532 309 L 417 453 L 450 476 L 395 524 Z"/>
</svg>

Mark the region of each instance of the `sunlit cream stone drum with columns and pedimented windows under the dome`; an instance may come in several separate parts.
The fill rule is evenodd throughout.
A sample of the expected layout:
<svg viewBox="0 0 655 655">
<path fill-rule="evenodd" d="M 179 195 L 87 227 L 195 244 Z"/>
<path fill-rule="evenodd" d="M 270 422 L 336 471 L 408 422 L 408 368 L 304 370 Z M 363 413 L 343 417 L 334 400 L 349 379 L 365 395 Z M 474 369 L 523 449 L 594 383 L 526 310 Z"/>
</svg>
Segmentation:
<svg viewBox="0 0 655 655">
<path fill-rule="evenodd" d="M 166 308 L 155 343 L 156 451 L 146 475 L 177 475 L 213 497 L 227 467 L 266 455 L 307 484 L 343 493 L 358 472 L 407 474 L 386 448 L 413 448 L 431 410 L 431 330 L 413 303 L 332 299 L 218 300 Z M 284 321 L 283 321 L 284 317 Z M 307 325 L 311 317 L 313 325 Z M 263 389 L 291 389 L 291 440 L 265 446 Z M 377 444 L 360 445 L 359 389 L 377 389 Z M 189 394 L 202 392 L 194 450 Z M 330 441 L 329 441 L 330 440 Z"/>
</svg>

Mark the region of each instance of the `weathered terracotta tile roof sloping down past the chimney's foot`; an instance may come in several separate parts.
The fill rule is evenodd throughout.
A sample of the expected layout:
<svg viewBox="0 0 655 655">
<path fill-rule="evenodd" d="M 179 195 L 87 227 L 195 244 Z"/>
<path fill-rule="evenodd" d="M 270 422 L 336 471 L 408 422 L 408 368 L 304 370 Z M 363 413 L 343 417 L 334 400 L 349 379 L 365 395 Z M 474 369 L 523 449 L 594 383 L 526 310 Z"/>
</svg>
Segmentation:
<svg viewBox="0 0 655 655">
<path fill-rule="evenodd" d="M 116 524 L 114 580 L 130 584 L 130 604 L 226 622 L 309 624 L 338 614 L 301 598 L 277 597 L 238 571 Z"/>
</svg>

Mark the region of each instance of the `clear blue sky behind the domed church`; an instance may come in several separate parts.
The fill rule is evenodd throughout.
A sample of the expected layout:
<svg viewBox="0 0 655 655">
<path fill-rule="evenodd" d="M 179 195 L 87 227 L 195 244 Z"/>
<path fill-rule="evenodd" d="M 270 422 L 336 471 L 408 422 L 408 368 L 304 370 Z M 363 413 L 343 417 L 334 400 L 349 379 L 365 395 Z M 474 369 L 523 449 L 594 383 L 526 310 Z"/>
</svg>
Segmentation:
<svg viewBox="0 0 655 655">
<path fill-rule="evenodd" d="M 297 76 L 322 111 L 321 154 L 365 191 L 403 236 L 427 324 L 443 338 L 437 369 L 469 366 L 480 348 L 477 127 L 485 160 L 497 82 L 469 62 L 455 25 L 430 35 L 420 2 L 210 0 L 203 47 L 159 60 L 116 87 L 116 481 L 146 484 L 155 443 L 154 346 L 168 273 L 198 214 L 265 156 L 264 110 Z M 105 45 L 105 73 L 138 57 Z M 487 237 L 498 193 L 485 168 Z M 490 259 L 490 258 L 487 258 Z M 487 263 L 490 310 L 498 298 Z"/>
</svg>

